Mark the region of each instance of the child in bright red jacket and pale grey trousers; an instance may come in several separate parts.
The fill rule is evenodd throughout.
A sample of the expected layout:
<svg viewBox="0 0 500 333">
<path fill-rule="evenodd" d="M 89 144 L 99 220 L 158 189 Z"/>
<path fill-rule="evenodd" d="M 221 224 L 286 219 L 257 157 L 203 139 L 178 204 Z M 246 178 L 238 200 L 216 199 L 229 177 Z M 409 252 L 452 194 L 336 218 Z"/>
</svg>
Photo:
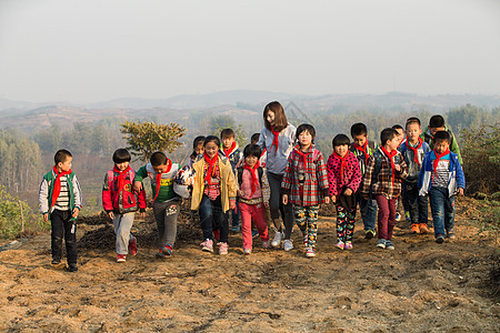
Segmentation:
<svg viewBox="0 0 500 333">
<path fill-rule="evenodd" d="M 130 229 L 138 210 L 146 218 L 146 192 L 136 192 L 132 188 L 136 172 L 129 165 L 130 160 L 127 149 L 114 151 L 114 168 L 106 174 L 102 186 L 102 206 L 113 221 L 117 235 L 117 262 L 126 262 L 129 252 L 137 254 L 137 239 Z"/>
</svg>

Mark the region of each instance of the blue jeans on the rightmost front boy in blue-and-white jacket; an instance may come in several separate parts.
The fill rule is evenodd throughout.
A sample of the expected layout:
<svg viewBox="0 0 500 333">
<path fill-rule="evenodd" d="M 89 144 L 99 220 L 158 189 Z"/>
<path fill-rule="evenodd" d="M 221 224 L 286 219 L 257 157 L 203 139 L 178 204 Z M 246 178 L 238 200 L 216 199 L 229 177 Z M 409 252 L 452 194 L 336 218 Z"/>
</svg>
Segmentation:
<svg viewBox="0 0 500 333">
<path fill-rule="evenodd" d="M 446 232 L 454 228 L 454 195 L 450 196 L 448 189 L 431 186 L 429 198 L 434 220 L 434 236 L 444 236 Z"/>
</svg>

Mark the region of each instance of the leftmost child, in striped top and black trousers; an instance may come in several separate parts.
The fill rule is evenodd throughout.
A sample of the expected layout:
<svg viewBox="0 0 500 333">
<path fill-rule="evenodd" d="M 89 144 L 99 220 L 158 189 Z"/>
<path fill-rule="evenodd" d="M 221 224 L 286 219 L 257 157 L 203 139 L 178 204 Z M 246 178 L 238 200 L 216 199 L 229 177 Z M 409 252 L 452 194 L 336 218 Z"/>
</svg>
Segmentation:
<svg viewBox="0 0 500 333">
<path fill-rule="evenodd" d="M 43 175 L 39 203 L 43 221 L 51 226 L 52 264 L 62 258 L 62 238 L 66 241 L 68 271 L 77 272 L 77 218 L 81 209 L 81 190 L 71 171 L 73 157 L 64 149 L 53 157 L 56 165 Z"/>
</svg>

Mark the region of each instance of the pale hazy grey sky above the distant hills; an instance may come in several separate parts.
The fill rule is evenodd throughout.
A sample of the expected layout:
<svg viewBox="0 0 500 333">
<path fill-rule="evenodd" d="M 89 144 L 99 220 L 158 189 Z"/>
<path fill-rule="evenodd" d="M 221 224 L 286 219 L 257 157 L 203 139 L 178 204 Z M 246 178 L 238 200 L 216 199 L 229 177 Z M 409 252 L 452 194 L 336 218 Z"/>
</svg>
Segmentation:
<svg viewBox="0 0 500 333">
<path fill-rule="evenodd" d="M 500 93 L 498 0 L 0 0 L 0 98 Z"/>
</svg>

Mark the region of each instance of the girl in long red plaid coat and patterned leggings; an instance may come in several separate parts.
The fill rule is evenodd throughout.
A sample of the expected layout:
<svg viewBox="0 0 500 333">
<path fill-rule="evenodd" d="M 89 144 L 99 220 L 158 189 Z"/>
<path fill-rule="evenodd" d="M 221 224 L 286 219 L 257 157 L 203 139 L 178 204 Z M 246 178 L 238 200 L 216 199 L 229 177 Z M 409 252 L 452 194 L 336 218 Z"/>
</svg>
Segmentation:
<svg viewBox="0 0 500 333">
<path fill-rule="evenodd" d="M 316 256 L 320 204 L 330 202 L 327 165 L 323 154 L 314 148 L 314 137 L 316 130 L 310 124 L 297 129 L 298 144 L 288 158 L 281 182 L 283 204 L 293 203 L 308 258 Z"/>
</svg>

